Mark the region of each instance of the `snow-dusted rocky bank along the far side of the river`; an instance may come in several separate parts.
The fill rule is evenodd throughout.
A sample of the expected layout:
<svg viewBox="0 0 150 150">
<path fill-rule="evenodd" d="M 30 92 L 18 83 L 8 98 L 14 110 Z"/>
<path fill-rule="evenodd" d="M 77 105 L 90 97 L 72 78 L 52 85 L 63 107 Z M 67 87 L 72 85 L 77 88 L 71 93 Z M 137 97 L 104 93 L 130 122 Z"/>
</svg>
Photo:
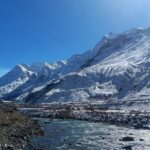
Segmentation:
<svg viewBox="0 0 150 150">
<path fill-rule="evenodd" d="M 129 126 L 136 129 L 150 129 L 150 112 L 110 109 L 101 104 L 57 103 L 37 107 L 20 108 L 20 110 L 30 117 L 76 119 Z"/>
</svg>

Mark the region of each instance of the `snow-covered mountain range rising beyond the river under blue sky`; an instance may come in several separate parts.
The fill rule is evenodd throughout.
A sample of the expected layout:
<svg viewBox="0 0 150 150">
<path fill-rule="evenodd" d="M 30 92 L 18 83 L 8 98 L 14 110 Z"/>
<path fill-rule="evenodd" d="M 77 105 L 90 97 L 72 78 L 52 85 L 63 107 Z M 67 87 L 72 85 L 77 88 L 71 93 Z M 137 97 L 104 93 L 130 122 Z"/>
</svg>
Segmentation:
<svg viewBox="0 0 150 150">
<path fill-rule="evenodd" d="M 39 103 L 149 99 L 150 28 L 110 33 L 64 61 L 18 65 L 0 78 L 0 93 Z"/>
</svg>

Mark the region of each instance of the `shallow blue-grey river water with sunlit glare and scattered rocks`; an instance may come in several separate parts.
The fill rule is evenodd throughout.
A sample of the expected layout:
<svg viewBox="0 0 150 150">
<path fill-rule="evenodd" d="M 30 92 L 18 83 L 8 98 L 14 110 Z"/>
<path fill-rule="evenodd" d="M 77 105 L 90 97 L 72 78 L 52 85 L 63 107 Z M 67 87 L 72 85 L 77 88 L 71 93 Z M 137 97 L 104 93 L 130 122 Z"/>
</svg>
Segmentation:
<svg viewBox="0 0 150 150">
<path fill-rule="evenodd" d="M 40 121 L 45 136 L 31 140 L 39 150 L 150 150 L 150 130 L 77 120 Z M 133 137 L 134 141 L 122 141 L 123 137 Z"/>
</svg>

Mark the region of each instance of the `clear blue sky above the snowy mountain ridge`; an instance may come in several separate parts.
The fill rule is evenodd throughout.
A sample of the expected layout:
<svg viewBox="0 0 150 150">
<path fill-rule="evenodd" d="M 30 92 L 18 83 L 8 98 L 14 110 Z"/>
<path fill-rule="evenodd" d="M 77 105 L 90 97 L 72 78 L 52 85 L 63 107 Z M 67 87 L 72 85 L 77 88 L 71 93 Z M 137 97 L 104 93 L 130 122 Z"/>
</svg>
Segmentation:
<svg viewBox="0 0 150 150">
<path fill-rule="evenodd" d="M 150 26 L 150 0 L 1 0 L 0 75 L 82 53 L 108 32 Z"/>
</svg>

